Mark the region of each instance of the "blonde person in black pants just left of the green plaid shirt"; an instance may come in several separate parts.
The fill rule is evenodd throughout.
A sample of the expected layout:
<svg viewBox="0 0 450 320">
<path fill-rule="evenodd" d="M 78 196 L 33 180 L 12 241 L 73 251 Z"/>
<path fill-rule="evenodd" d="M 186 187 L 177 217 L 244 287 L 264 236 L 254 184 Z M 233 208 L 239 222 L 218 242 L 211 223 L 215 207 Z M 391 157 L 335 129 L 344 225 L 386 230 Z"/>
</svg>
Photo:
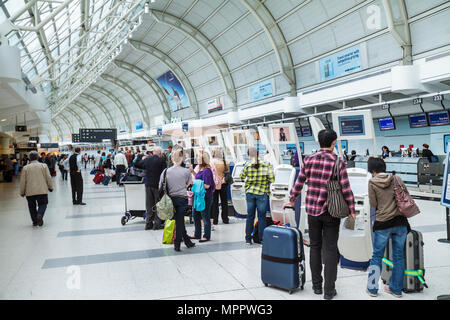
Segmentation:
<svg viewBox="0 0 450 320">
<path fill-rule="evenodd" d="M 223 151 L 219 148 L 213 151 L 213 163 L 217 170 L 217 175 L 219 176 L 219 185 L 216 185 L 216 190 L 213 195 L 213 203 L 211 208 L 211 216 L 213 219 L 213 224 L 217 225 L 219 223 L 219 197 L 222 207 L 222 222 L 225 224 L 230 223 L 228 218 L 228 184 L 225 182 L 225 171 L 229 171 L 230 167 L 225 161 L 225 156 Z"/>
</svg>

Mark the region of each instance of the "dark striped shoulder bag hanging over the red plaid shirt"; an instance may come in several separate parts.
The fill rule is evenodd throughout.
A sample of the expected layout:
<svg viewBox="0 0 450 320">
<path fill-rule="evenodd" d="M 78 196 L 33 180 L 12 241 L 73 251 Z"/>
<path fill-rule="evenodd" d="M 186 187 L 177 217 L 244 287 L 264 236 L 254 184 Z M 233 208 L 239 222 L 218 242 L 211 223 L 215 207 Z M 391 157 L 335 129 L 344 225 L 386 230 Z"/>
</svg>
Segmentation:
<svg viewBox="0 0 450 320">
<path fill-rule="evenodd" d="M 328 189 L 328 212 L 334 218 L 345 218 L 350 214 L 347 201 L 342 194 L 342 187 L 339 183 L 339 156 L 333 166 L 330 181 L 327 182 Z"/>
</svg>

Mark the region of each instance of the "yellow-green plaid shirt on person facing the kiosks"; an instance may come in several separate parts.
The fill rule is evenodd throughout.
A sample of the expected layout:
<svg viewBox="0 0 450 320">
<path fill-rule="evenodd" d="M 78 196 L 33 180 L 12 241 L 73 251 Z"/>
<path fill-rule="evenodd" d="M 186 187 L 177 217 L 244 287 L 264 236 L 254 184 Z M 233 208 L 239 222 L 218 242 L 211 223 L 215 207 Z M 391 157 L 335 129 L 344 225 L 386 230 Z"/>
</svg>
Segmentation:
<svg viewBox="0 0 450 320">
<path fill-rule="evenodd" d="M 245 180 L 245 193 L 269 195 L 270 184 L 275 181 L 272 166 L 260 159 L 258 162 L 258 169 L 252 167 L 256 163 L 255 160 L 252 160 L 247 162 L 242 170 L 241 179 Z"/>
</svg>

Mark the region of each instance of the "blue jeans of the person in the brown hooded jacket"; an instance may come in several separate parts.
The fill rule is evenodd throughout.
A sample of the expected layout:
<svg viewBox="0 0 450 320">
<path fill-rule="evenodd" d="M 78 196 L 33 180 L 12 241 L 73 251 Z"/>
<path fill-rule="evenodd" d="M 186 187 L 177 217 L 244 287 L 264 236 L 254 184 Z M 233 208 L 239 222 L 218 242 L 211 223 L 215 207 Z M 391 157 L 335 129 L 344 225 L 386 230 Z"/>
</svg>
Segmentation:
<svg viewBox="0 0 450 320">
<path fill-rule="evenodd" d="M 370 260 L 369 279 L 367 282 L 370 293 L 378 293 L 378 281 L 382 270 L 381 260 L 384 257 L 389 238 L 392 237 L 392 263 L 394 264 L 394 268 L 392 270 L 391 278 L 389 279 L 389 289 L 397 295 L 402 294 L 405 271 L 405 257 L 403 252 L 405 249 L 407 232 L 405 226 L 376 230 L 374 232 L 373 255 Z"/>
</svg>

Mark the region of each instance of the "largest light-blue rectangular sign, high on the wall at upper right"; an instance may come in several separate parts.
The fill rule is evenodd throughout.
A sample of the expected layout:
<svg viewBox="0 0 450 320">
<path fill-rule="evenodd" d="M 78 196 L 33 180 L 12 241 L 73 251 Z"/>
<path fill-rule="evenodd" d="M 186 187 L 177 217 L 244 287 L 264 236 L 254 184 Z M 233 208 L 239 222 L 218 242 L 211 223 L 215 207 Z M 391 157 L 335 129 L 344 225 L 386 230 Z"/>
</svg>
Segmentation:
<svg viewBox="0 0 450 320">
<path fill-rule="evenodd" d="M 340 76 L 362 70 L 360 46 L 354 46 L 329 57 L 323 58 L 320 64 L 321 81 L 331 80 Z"/>
</svg>

